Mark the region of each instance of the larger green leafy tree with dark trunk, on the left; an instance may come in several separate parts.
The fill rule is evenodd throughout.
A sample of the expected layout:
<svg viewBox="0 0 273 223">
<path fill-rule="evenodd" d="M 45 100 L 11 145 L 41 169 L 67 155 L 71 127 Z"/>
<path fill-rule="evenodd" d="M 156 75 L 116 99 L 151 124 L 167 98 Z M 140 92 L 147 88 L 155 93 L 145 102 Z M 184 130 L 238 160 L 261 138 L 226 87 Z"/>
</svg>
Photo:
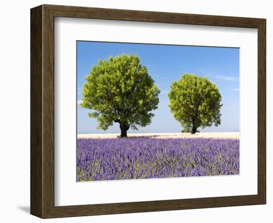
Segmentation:
<svg viewBox="0 0 273 223">
<path fill-rule="evenodd" d="M 160 90 L 136 55 L 110 56 L 98 60 L 85 77 L 81 107 L 91 109 L 89 117 L 97 118 L 98 129 L 107 130 L 113 122 L 120 125 L 121 137 L 132 127 L 151 123 L 157 109 Z"/>
</svg>

